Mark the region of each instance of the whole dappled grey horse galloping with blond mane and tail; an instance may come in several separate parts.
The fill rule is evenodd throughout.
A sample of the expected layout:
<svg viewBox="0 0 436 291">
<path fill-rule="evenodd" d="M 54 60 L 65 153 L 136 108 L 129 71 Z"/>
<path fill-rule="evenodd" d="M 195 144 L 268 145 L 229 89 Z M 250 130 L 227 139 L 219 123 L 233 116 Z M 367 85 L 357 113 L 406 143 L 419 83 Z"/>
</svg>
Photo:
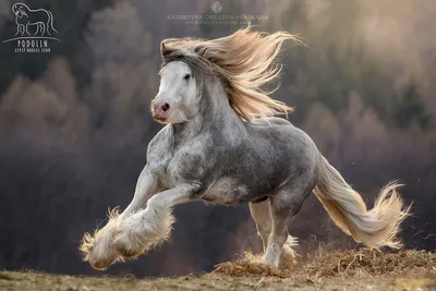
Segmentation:
<svg viewBox="0 0 436 291">
<path fill-rule="evenodd" d="M 247 203 L 264 243 L 263 260 L 278 267 L 293 254 L 288 222 L 312 192 L 355 241 L 401 246 L 397 234 L 409 207 L 403 208 L 398 184 L 384 187 L 367 210 L 306 133 L 270 117 L 291 110 L 261 89 L 278 76 L 275 59 L 287 39 L 298 40 L 249 27 L 218 39 L 161 43 L 152 112 L 166 126 L 148 145 L 132 203 L 120 215 L 112 211 L 94 235 L 85 233 L 85 260 L 105 269 L 138 256 L 169 237 L 173 206 L 203 199 Z"/>
</svg>

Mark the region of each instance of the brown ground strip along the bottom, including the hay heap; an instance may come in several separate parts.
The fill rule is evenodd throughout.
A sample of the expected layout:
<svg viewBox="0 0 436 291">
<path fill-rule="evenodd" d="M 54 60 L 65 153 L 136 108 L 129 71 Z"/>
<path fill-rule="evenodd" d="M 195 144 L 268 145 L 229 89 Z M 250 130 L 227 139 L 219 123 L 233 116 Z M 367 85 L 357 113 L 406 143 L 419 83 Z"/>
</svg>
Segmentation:
<svg viewBox="0 0 436 291">
<path fill-rule="evenodd" d="M 300 258 L 272 269 L 256 256 L 223 263 L 211 274 L 179 278 L 111 278 L 0 271 L 0 290 L 296 290 L 436 291 L 436 254 L 361 250 Z"/>
</svg>

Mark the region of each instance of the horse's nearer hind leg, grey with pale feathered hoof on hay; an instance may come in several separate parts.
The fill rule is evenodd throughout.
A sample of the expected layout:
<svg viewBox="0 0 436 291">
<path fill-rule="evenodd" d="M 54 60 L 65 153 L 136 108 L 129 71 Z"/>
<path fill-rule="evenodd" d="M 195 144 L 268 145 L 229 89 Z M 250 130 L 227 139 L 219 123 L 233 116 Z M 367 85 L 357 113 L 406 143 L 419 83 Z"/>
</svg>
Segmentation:
<svg viewBox="0 0 436 291">
<path fill-rule="evenodd" d="M 312 191 L 298 190 L 295 187 L 292 187 L 292 190 L 282 190 L 270 197 L 271 233 L 268 237 L 264 260 L 274 267 L 279 267 L 280 259 L 284 259 L 287 256 L 294 256 L 291 247 L 296 244 L 296 241 L 289 235 L 288 225 Z"/>
</svg>

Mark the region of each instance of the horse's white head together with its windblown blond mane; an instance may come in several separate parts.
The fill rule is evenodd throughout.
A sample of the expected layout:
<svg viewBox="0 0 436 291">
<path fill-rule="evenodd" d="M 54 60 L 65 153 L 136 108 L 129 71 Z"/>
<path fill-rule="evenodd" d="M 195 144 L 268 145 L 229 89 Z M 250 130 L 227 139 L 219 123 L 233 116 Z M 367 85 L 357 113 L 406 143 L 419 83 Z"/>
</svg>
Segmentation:
<svg viewBox="0 0 436 291">
<path fill-rule="evenodd" d="M 292 111 L 268 96 L 274 89 L 262 89 L 279 76 L 281 65 L 276 63 L 276 57 L 287 39 L 300 41 L 284 32 L 268 35 L 251 32 L 250 27 L 210 40 L 165 39 L 160 48 L 164 66 L 159 93 L 152 102 L 154 118 L 180 123 L 210 107 L 231 107 L 247 121 Z"/>
</svg>

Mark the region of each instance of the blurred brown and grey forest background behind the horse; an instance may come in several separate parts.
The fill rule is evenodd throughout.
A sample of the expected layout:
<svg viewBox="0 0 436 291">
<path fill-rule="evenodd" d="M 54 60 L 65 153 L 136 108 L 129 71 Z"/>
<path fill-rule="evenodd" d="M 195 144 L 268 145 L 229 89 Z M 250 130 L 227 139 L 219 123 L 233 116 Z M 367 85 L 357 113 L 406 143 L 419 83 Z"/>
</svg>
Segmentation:
<svg viewBox="0 0 436 291">
<path fill-rule="evenodd" d="M 158 90 L 159 41 L 215 38 L 243 24 L 169 15 L 267 15 L 256 29 L 300 34 L 288 45 L 272 97 L 371 207 L 399 179 L 414 201 L 407 247 L 436 248 L 436 2 L 434 0 L 32 0 L 55 16 L 50 53 L 0 44 L 0 268 L 101 274 L 78 241 L 132 198 L 148 142 L 161 125 L 148 112 Z M 0 39 L 15 34 L 14 1 L 0 0 Z M 183 275 L 261 251 L 247 206 L 177 207 L 171 240 L 107 274 Z M 290 232 L 301 252 L 354 247 L 311 197 Z"/>
</svg>

